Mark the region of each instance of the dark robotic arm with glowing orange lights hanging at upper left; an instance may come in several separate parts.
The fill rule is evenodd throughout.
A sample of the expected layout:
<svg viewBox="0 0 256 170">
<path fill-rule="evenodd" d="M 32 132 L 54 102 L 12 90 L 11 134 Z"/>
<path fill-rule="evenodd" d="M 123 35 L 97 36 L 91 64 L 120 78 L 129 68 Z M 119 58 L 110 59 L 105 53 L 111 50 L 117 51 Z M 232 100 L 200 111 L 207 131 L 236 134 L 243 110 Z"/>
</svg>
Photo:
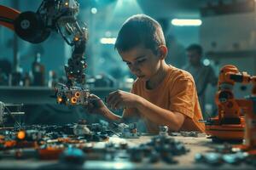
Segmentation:
<svg viewBox="0 0 256 170">
<path fill-rule="evenodd" d="M 44 42 L 51 31 L 56 31 L 68 45 L 73 46 L 73 54 L 65 65 L 66 85 L 56 89 L 57 102 L 65 105 L 84 104 L 89 95 L 84 89 L 87 27 L 77 20 L 77 14 L 77 0 L 43 0 L 37 12 L 23 13 L 0 5 L 0 25 L 15 31 L 21 39 L 32 43 Z"/>
</svg>

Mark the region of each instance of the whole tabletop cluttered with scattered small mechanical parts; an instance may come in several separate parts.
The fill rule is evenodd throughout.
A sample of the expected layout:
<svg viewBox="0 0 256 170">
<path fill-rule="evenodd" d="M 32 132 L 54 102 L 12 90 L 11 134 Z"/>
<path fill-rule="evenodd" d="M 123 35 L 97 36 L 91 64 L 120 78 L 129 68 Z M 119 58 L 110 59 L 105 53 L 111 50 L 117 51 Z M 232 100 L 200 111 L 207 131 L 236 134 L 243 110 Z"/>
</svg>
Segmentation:
<svg viewBox="0 0 256 170">
<path fill-rule="evenodd" d="M 135 123 L 2 127 L 0 169 L 252 168 L 255 158 L 205 133 L 138 133 Z"/>
</svg>

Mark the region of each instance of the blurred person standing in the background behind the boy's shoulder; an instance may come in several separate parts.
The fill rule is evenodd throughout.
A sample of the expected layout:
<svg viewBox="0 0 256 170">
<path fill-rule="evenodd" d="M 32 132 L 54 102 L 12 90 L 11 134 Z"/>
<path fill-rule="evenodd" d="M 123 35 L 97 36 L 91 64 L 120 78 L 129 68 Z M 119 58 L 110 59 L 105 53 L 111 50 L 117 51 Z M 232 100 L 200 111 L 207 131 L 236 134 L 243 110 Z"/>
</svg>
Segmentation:
<svg viewBox="0 0 256 170">
<path fill-rule="evenodd" d="M 183 70 L 189 71 L 194 77 L 195 86 L 197 88 L 197 95 L 201 105 L 201 111 L 204 118 L 207 117 L 205 112 L 205 92 L 208 83 L 216 86 L 218 77 L 216 77 L 211 65 L 203 65 L 201 58 L 203 50 L 200 45 L 192 44 L 186 49 L 186 54 L 189 58 L 189 64 L 183 67 Z"/>
</svg>

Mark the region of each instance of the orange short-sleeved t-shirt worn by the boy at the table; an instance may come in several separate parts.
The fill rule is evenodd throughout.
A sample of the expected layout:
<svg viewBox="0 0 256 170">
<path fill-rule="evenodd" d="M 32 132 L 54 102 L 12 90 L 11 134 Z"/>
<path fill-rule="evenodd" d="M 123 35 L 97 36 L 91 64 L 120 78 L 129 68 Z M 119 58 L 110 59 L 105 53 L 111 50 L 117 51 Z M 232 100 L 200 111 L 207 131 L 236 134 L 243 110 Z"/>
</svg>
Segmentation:
<svg viewBox="0 0 256 170">
<path fill-rule="evenodd" d="M 177 111 L 185 116 L 181 131 L 205 132 L 205 125 L 198 120 L 203 119 L 193 77 L 187 71 L 170 65 L 165 79 L 157 88 L 147 89 L 146 82 L 137 79 L 131 88 L 132 94 L 137 94 L 154 105 L 169 111 Z M 126 109 L 125 115 L 132 116 L 132 109 Z M 143 117 L 149 133 L 158 133 L 160 124 Z"/>
</svg>

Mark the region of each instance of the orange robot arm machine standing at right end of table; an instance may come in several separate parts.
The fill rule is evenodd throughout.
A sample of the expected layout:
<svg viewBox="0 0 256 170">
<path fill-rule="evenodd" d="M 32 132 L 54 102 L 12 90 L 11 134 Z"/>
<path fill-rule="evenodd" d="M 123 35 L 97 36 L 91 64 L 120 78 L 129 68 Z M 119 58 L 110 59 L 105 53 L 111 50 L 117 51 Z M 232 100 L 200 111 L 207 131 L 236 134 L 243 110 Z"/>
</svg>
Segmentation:
<svg viewBox="0 0 256 170">
<path fill-rule="evenodd" d="M 243 84 L 252 82 L 252 95 L 246 99 L 235 99 L 232 88 L 236 82 Z M 215 97 L 218 116 L 207 121 L 206 133 L 211 135 L 212 139 L 242 141 L 246 138 L 248 145 L 255 145 L 256 136 L 253 134 L 253 131 L 256 132 L 256 115 L 253 115 L 256 113 L 255 106 L 253 108 L 253 103 L 256 102 L 255 95 L 256 77 L 238 71 L 234 65 L 224 65 L 219 73 L 218 92 Z M 244 133 L 245 128 L 246 133 Z"/>
</svg>

